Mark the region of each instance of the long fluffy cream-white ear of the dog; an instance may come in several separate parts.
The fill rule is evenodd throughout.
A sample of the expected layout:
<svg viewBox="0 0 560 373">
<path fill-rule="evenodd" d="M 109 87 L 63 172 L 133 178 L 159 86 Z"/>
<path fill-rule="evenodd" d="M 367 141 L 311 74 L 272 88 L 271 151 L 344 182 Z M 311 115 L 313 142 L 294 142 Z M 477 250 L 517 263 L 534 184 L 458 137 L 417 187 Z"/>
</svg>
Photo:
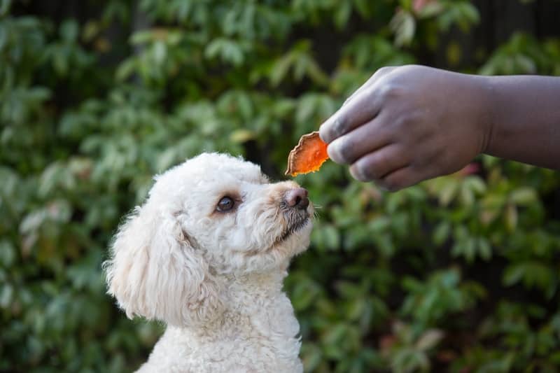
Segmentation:
<svg viewBox="0 0 560 373">
<path fill-rule="evenodd" d="M 137 207 L 104 263 L 109 294 L 129 318 L 171 325 L 207 323 L 223 310 L 220 287 L 173 213 Z"/>
</svg>

